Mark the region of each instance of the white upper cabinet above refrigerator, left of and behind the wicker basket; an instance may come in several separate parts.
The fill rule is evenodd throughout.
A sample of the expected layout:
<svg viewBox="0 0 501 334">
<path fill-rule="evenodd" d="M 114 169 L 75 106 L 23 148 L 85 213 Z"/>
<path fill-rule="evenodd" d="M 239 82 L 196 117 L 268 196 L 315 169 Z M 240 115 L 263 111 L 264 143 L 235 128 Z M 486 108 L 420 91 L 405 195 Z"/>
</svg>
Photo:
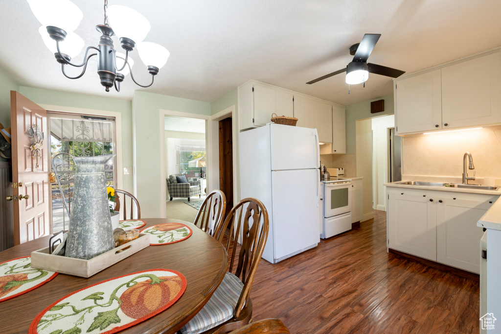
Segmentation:
<svg viewBox="0 0 501 334">
<path fill-rule="evenodd" d="M 273 113 L 293 117 L 293 97 L 292 92 L 253 81 L 238 87 L 240 129 L 266 125 Z"/>
</svg>

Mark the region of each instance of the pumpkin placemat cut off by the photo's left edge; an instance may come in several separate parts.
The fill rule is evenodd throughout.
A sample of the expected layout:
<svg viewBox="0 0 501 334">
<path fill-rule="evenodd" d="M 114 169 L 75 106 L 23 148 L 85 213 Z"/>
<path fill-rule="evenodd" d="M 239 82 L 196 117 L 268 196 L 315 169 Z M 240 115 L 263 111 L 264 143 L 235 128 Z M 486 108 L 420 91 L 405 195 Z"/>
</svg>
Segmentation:
<svg viewBox="0 0 501 334">
<path fill-rule="evenodd" d="M 58 273 L 31 266 L 31 256 L 0 263 L 0 302 L 44 285 Z"/>
</svg>

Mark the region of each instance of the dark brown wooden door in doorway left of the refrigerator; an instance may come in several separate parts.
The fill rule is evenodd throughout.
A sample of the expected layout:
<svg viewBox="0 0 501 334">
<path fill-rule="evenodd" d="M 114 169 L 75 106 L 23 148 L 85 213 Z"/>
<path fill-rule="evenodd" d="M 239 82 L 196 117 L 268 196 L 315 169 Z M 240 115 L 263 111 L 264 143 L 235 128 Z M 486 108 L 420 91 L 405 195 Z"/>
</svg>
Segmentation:
<svg viewBox="0 0 501 334">
<path fill-rule="evenodd" d="M 226 196 L 226 212 L 233 208 L 233 142 L 231 117 L 219 121 L 219 190 Z"/>
</svg>

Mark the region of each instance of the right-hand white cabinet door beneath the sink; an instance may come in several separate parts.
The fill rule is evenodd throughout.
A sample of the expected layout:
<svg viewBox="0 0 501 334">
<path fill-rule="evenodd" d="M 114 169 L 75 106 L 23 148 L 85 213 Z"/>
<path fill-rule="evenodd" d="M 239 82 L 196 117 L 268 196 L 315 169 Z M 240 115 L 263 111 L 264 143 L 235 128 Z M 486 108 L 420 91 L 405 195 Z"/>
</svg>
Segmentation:
<svg viewBox="0 0 501 334">
<path fill-rule="evenodd" d="M 480 195 L 477 200 L 439 199 L 442 203 L 436 204 L 438 262 L 480 273 L 478 245 L 483 231 L 476 222 L 496 198 Z"/>
</svg>

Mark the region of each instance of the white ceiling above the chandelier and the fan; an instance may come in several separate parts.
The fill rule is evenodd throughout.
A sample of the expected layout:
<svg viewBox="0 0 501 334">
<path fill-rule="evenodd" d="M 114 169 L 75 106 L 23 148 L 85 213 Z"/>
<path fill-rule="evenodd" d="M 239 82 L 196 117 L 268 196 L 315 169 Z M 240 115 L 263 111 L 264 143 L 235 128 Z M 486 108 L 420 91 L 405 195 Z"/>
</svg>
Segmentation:
<svg viewBox="0 0 501 334">
<path fill-rule="evenodd" d="M 73 2 L 84 14 L 75 32 L 97 46 L 104 2 Z M 143 14 L 151 24 L 145 41 L 170 51 L 153 86 L 127 76 L 120 93 L 106 93 L 95 60 L 82 78 L 65 78 L 24 0 L 0 1 L 0 66 L 22 85 L 121 99 L 141 89 L 211 102 L 256 79 L 349 105 L 391 94 L 391 78 L 371 74 L 351 94 L 344 74 L 305 83 L 345 67 L 365 33 L 382 34 L 369 62 L 407 73 L 501 45 L 499 0 L 109 0 L 116 4 Z M 136 80 L 149 83 L 137 51 L 132 58 Z"/>
</svg>

